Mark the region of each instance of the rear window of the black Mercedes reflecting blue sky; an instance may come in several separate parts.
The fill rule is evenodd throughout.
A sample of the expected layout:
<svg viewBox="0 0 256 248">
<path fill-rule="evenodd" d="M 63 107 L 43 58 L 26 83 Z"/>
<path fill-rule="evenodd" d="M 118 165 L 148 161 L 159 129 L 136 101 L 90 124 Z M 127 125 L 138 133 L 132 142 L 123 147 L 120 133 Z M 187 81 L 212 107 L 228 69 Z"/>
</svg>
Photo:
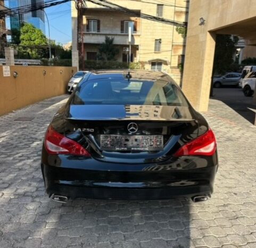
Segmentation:
<svg viewBox="0 0 256 248">
<path fill-rule="evenodd" d="M 71 104 L 188 105 L 172 82 L 111 78 L 82 83 Z"/>
</svg>

